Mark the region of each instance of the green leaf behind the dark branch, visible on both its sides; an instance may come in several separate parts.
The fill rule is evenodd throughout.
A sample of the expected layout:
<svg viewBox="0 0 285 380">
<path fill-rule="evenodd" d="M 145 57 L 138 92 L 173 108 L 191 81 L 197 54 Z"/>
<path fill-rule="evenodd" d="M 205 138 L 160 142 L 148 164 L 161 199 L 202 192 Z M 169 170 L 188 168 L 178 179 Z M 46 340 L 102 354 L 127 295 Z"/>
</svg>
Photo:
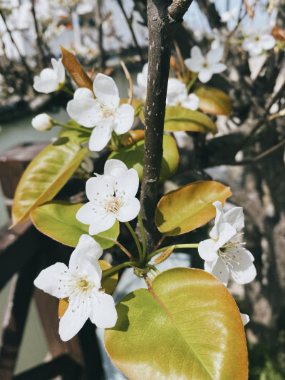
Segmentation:
<svg viewBox="0 0 285 380">
<path fill-rule="evenodd" d="M 138 143 L 128 147 L 115 150 L 108 157 L 123 161 L 128 169 L 134 168 L 138 172 L 140 180 L 142 180 L 142 162 L 143 149 L 145 140 L 140 140 Z M 175 139 L 170 135 L 163 136 L 163 157 L 160 170 L 160 182 L 166 180 L 170 175 L 173 175 L 179 163 L 179 154 Z"/>
</svg>

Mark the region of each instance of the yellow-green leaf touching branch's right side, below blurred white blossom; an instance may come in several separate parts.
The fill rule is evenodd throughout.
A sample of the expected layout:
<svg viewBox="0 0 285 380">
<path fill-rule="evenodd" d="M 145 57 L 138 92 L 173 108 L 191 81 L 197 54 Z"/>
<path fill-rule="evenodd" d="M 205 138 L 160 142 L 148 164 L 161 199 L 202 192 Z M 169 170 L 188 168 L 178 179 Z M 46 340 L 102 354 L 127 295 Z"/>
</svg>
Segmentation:
<svg viewBox="0 0 285 380">
<path fill-rule="evenodd" d="M 176 132 L 187 130 L 189 132 L 217 133 L 215 123 L 204 113 L 192 111 L 183 107 L 167 106 L 165 110 L 165 130 Z"/>
</svg>

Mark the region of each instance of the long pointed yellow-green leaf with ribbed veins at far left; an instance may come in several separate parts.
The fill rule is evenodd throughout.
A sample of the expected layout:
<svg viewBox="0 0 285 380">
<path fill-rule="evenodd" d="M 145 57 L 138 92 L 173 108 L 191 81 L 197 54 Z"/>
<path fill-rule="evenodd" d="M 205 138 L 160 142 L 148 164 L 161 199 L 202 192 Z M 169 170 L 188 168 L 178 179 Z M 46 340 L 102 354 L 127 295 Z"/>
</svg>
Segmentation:
<svg viewBox="0 0 285 380">
<path fill-rule="evenodd" d="M 63 130 L 58 140 L 31 161 L 16 188 L 13 226 L 27 220 L 31 210 L 53 199 L 63 188 L 86 155 L 88 149 L 81 143 L 89 138 L 86 133 Z"/>
</svg>

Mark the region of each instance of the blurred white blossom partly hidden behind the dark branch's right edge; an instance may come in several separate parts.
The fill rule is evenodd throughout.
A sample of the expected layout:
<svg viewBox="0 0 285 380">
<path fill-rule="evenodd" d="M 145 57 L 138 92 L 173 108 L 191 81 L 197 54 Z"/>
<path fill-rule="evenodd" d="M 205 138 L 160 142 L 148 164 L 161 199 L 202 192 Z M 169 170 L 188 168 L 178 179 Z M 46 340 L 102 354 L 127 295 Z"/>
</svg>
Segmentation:
<svg viewBox="0 0 285 380">
<path fill-rule="evenodd" d="M 188 95 L 185 83 L 170 78 L 167 86 L 166 105 L 182 106 L 195 111 L 199 107 L 199 98 L 195 93 Z"/>
</svg>

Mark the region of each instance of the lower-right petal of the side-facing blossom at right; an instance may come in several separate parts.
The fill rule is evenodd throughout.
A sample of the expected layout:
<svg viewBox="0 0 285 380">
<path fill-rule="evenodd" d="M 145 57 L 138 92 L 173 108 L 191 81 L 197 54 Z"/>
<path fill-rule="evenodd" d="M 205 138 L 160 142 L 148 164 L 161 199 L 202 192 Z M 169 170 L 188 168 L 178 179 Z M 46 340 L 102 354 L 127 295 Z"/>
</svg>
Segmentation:
<svg viewBox="0 0 285 380">
<path fill-rule="evenodd" d="M 257 269 L 254 267 L 252 257 L 243 247 L 239 247 L 234 252 L 234 258 L 229 263 L 232 265 L 230 277 L 238 284 L 248 284 L 257 275 Z"/>
</svg>

